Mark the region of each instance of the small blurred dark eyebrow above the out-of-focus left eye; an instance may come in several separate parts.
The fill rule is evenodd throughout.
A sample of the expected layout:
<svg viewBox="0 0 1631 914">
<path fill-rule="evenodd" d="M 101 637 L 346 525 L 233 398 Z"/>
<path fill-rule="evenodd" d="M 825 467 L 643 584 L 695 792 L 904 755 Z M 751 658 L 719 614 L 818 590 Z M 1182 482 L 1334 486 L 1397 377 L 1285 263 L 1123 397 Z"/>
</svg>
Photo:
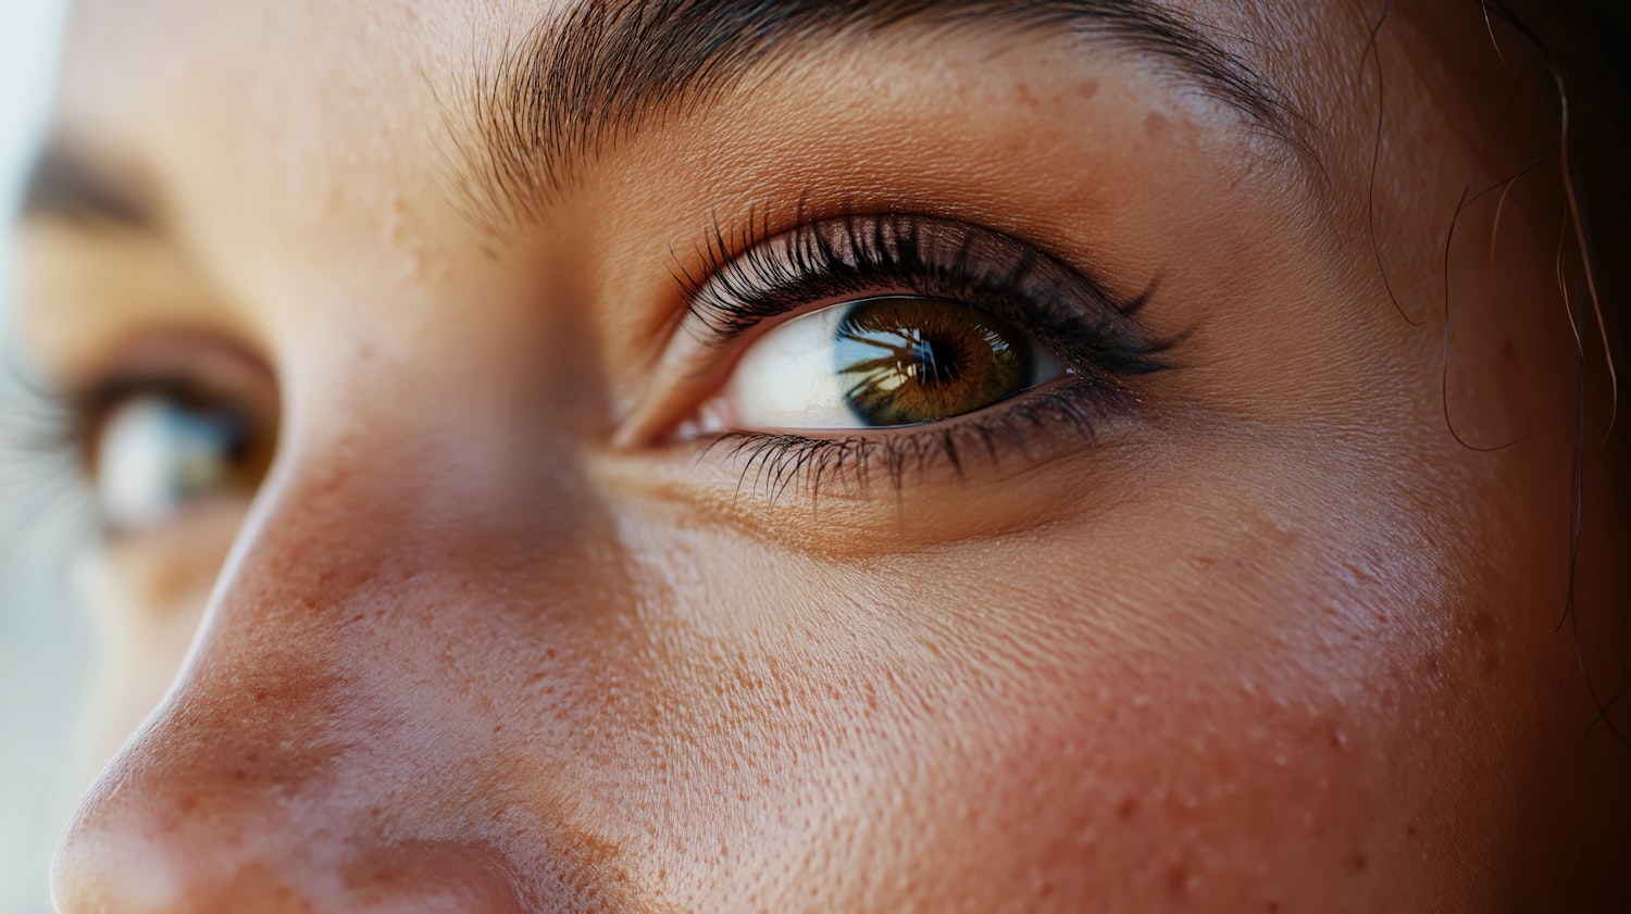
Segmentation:
<svg viewBox="0 0 1631 914">
<path fill-rule="evenodd" d="M 134 186 L 96 168 L 67 142 L 47 143 L 23 182 L 20 217 L 60 218 L 157 231 L 158 218 Z"/>
</svg>

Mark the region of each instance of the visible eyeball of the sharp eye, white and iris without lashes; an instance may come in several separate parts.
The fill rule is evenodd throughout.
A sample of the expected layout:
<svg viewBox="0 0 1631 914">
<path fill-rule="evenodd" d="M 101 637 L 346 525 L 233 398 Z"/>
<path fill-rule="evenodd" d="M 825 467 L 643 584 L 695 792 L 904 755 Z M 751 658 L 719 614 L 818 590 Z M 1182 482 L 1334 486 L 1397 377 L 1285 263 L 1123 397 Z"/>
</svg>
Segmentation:
<svg viewBox="0 0 1631 914">
<path fill-rule="evenodd" d="M 757 339 L 698 432 L 920 425 L 1068 376 L 1026 332 L 944 298 L 822 308 Z"/>
</svg>

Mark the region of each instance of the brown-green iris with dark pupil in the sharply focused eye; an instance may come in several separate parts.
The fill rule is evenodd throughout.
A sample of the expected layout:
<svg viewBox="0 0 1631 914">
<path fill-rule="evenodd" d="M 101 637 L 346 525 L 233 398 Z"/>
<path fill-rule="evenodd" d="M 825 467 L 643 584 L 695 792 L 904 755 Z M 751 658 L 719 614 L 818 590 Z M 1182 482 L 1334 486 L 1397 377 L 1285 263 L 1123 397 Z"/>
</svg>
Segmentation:
<svg viewBox="0 0 1631 914">
<path fill-rule="evenodd" d="M 838 323 L 845 401 L 868 425 L 974 412 L 1031 386 L 1031 344 L 992 314 L 941 298 L 856 301 Z"/>
</svg>

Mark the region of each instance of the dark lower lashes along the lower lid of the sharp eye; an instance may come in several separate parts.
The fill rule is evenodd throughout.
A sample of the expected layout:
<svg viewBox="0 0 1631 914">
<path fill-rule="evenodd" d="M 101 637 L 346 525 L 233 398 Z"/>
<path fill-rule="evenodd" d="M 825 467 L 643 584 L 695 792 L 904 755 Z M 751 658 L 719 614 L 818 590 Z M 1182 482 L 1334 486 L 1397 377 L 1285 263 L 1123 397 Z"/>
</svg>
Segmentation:
<svg viewBox="0 0 1631 914">
<path fill-rule="evenodd" d="M 871 435 L 726 432 L 703 445 L 698 461 L 723 451 L 723 463 L 739 468 L 736 495 L 760 495 L 771 505 L 789 490 L 817 502 L 832 486 L 866 495 L 879 477 L 899 495 L 913 476 L 935 469 L 962 477 L 970 461 L 1036 459 L 1041 448 L 1057 446 L 1060 433 L 1093 443 L 1101 425 L 1130 404 L 1125 391 L 1073 378 L 967 417 Z"/>
</svg>

